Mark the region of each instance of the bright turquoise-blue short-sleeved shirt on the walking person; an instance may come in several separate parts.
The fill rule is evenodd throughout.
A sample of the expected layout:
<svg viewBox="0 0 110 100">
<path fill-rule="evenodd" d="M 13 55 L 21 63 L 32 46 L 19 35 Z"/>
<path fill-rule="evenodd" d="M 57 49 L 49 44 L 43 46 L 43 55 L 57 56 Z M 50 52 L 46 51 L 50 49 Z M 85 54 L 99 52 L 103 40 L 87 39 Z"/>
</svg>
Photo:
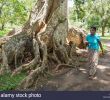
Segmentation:
<svg viewBox="0 0 110 100">
<path fill-rule="evenodd" d="M 100 36 L 98 34 L 95 34 L 95 35 L 88 34 L 86 36 L 86 40 L 89 43 L 88 49 L 93 49 L 93 50 L 97 50 L 97 51 L 99 50 L 98 41 L 100 41 Z"/>
</svg>

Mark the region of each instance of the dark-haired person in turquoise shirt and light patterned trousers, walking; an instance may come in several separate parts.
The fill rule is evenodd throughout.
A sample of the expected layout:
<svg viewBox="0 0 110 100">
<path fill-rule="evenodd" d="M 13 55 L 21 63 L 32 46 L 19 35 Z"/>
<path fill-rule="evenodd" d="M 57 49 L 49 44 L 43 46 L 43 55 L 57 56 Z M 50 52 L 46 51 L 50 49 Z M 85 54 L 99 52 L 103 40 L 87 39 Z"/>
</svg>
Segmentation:
<svg viewBox="0 0 110 100">
<path fill-rule="evenodd" d="M 96 27 L 91 27 L 90 33 L 86 36 L 86 45 L 88 46 L 89 78 L 93 79 L 98 65 L 99 46 L 103 54 L 102 43 L 100 41 L 100 36 L 96 33 Z"/>
</svg>

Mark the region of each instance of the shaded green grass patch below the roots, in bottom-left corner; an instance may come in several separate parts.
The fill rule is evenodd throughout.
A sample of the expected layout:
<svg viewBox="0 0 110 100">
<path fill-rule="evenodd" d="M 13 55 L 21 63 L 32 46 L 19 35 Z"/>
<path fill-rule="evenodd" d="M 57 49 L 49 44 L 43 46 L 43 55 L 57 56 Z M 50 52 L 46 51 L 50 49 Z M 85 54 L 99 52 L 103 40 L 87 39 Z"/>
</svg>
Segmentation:
<svg viewBox="0 0 110 100">
<path fill-rule="evenodd" d="M 11 74 L 5 74 L 0 76 L 0 91 L 2 90 L 15 90 L 22 79 L 26 77 L 26 74 L 21 73 L 19 75 L 11 77 Z"/>
</svg>

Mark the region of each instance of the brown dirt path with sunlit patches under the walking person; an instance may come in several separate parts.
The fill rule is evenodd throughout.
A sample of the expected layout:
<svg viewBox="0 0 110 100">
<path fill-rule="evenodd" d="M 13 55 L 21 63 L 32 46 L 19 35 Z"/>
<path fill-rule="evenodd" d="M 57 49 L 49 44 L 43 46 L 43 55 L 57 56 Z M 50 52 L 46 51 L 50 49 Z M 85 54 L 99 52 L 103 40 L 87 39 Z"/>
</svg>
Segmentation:
<svg viewBox="0 0 110 100">
<path fill-rule="evenodd" d="M 99 59 L 97 77 L 88 79 L 87 66 L 80 71 L 75 69 L 62 69 L 54 73 L 54 77 L 41 89 L 44 91 L 110 91 L 110 41 L 104 41 L 107 53 Z"/>
</svg>

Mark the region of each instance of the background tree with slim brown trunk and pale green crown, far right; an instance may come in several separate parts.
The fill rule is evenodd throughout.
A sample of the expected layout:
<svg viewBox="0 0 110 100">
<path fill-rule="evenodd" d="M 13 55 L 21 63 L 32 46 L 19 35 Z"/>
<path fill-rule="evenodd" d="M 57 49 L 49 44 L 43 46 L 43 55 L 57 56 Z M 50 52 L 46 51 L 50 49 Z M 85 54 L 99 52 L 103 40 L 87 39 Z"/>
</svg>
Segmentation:
<svg viewBox="0 0 110 100">
<path fill-rule="evenodd" d="M 105 28 L 110 20 L 110 0 L 97 0 L 94 5 L 94 12 L 100 17 L 102 36 L 105 35 Z"/>
</svg>

